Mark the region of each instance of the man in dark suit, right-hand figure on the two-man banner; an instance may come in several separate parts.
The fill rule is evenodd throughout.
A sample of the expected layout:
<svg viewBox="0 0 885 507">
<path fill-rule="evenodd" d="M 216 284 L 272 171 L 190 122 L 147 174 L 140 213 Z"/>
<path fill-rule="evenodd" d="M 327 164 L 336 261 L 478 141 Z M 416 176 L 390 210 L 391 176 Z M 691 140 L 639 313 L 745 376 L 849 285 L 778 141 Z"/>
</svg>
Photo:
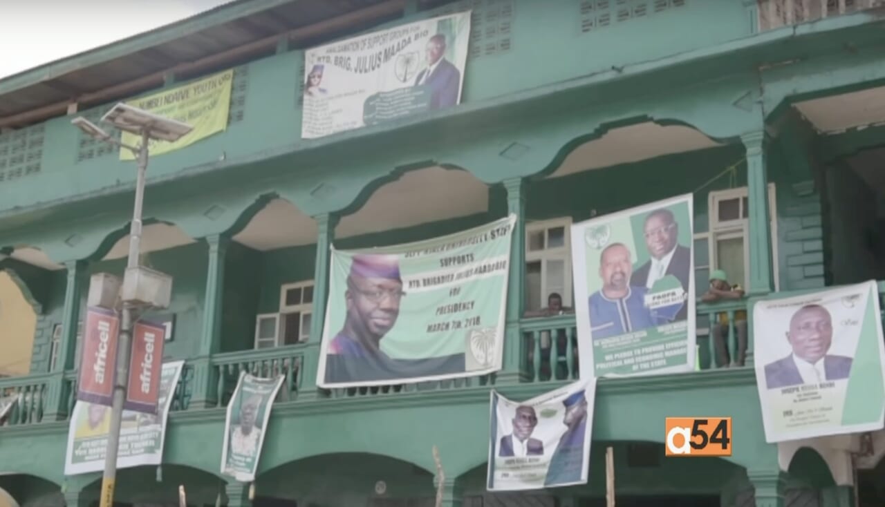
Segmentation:
<svg viewBox="0 0 885 507">
<path fill-rule="evenodd" d="M 651 290 L 656 281 L 672 274 L 688 294 L 691 250 L 676 242 L 679 224 L 673 218 L 673 211 L 663 208 L 651 211 L 645 218 L 643 233 L 651 258 L 633 273 L 630 284 Z M 683 303 L 673 320 L 685 320 L 688 315 L 689 305 Z"/>
</svg>

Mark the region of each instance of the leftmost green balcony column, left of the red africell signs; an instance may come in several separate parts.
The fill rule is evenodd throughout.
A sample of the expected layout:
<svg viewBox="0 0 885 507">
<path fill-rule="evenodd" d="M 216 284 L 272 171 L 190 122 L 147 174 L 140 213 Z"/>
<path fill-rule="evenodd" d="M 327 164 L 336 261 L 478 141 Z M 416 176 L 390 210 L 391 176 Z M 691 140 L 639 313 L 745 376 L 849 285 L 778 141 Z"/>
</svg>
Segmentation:
<svg viewBox="0 0 885 507">
<path fill-rule="evenodd" d="M 46 393 L 46 411 L 43 420 L 65 419 L 67 402 L 71 388 L 65 382 L 65 370 L 79 367 L 74 364 L 74 351 L 77 350 L 77 327 L 80 324 L 81 295 L 86 280 L 86 263 L 74 260 L 65 263 L 67 283 L 65 285 L 65 308 L 62 313 L 62 332 L 58 342 L 58 358 L 52 366 L 52 378 Z"/>
</svg>

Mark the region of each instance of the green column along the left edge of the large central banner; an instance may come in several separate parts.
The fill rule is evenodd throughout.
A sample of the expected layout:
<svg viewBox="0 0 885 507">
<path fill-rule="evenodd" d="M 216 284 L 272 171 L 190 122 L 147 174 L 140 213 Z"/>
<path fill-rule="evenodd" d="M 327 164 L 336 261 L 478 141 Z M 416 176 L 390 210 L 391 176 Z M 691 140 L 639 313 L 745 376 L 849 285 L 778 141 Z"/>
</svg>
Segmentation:
<svg viewBox="0 0 885 507">
<path fill-rule="evenodd" d="M 332 213 L 322 213 L 313 217 L 317 221 L 317 255 L 314 259 L 313 271 L 313 308 L 311 319 L 311 338 L 304 350 L 301 375 L 301 389 L 298 396 L 302 399 L 314 399 L 317 393 L 317 368 L 319 364 L 319 346 L 323 337 L 323 324 L 326 320 L 326 300 L 329 283 L 329 248 L 335 241 L 335 226 L 338 217 Z"/>
</svg>

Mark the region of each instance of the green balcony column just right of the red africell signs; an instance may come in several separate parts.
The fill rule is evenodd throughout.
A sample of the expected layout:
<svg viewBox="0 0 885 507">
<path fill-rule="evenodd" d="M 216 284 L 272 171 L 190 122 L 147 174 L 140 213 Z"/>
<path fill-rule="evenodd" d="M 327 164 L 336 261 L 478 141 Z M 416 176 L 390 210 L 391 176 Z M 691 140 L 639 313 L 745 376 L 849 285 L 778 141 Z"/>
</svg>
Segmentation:
<svg viewBox="0 0 885 507">
<path fill-rule="evenodd" d="M 203 327 L 200 345 L 193 361 L 193 394 L 189 408 L 208 408 L 218 403 L 218 374 L 212 368 L 211 356 L 221 345 L 221 315 L 224 295 L 225 254 L 230 240 L 220 234 L 206 236 L 206 290 L 203 301 Z"/>
</svg>

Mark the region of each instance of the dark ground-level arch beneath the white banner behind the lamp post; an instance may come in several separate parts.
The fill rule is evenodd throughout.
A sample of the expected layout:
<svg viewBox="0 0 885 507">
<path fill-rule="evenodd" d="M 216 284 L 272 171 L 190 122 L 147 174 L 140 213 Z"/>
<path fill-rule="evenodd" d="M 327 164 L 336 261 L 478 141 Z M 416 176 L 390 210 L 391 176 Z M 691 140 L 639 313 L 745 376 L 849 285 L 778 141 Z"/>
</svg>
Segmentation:
<svg viewBox="0 0 885 507">
<path fill-rule="evenodd" d="M 78 505 L 99 504 L 101 477 L 81 489 Z M 179 486 L 184 487 L 188 507 L 215 505 L 224 498 L 225 480 L 209 472 L 184 465 L 142 465 L 117 471 L 114 505 L 148 507 L 179 505 Z"/>
</svg>

